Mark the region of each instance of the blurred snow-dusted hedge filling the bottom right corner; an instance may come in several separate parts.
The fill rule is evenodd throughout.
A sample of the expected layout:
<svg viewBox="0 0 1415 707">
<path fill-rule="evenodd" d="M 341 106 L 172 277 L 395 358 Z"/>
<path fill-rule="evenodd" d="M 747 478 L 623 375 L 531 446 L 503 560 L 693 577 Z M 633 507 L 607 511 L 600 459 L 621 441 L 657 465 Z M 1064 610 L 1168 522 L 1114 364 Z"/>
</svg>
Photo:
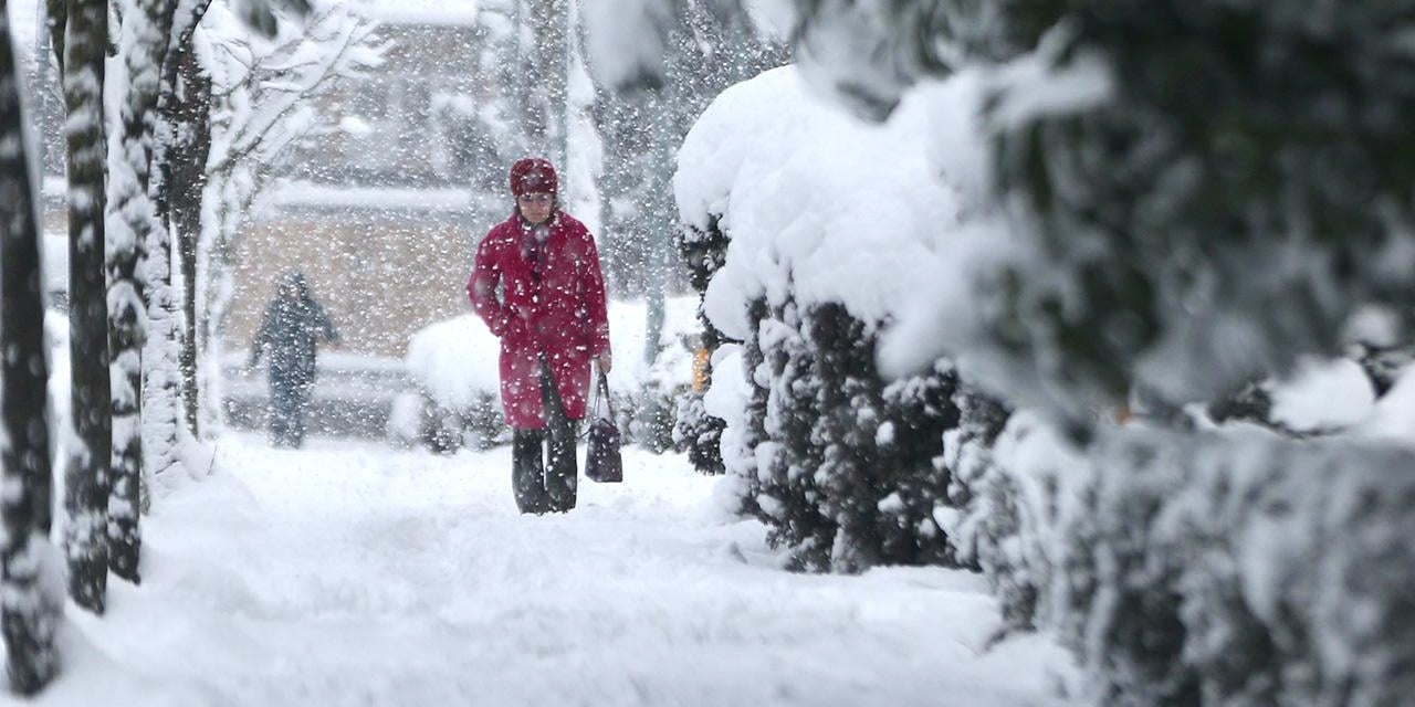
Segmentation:
<svg viewBox="0 0 1415 707">
<path fill-rule="evenodd" d="M 1347 379 L 1337 387 L 1357 392 L 1336 393 L 1343 366 L 1317 370 L 1275 385 L 1279 409 L 1358 397 L 1365 385 Z M 961 510 L 942 525 L 988 575 L 1009 629 L 1053 631 L 1075 652 L 1095 703 L 1405 704 L 1407 383 L 1415 370 L 1344 436 L 1132 424 L 1084 452 L 1029 411 L 989 443 L 976 421 L 998 417 L 961 403 L 945 454 Z"/>
</svg>

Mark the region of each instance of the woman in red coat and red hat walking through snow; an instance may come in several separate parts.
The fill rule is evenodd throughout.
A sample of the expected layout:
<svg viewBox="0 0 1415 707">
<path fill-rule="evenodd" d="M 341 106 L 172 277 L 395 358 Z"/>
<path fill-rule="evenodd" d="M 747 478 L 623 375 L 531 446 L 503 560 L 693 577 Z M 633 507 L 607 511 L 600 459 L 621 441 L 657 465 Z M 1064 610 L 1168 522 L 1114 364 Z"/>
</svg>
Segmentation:
<svg viewBox="0 0 1415 707">
<path fill-rule="evenodd" d="M 481 239 L 467 281 L 473 310 L 501 338 L 501 404 L 512 427 L 511 481 L 522 513 L 574 508 L 574 438 L 590 362 L 608 373 L 611 361 L 594 238 L 560 211 L 558 185 L 546 160 L 511 167 L 515 212 Z"/>
</svg>

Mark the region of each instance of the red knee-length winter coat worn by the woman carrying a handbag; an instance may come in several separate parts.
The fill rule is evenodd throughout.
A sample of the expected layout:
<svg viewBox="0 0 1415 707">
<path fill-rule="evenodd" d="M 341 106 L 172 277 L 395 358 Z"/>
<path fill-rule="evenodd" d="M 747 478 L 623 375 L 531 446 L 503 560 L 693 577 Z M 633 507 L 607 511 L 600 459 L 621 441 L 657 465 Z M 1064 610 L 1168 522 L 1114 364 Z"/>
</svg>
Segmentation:
<svg viewBox="0 0 1415 707">
<path fill-rule="evenodd" d="M 567 214 L 555 214 L 548 223 L 539 277 L 531 257 L 535 235 L 512 214 L 477 246 L 477 263 L 467 281 L 471 308 L 501 337 L 501 404 L 507 423 L 516 428 L 545 427 L 542 352 L 572 420 L 584 419 L 590 359 L 610 352 L 604 276 L 594 238 Z"/>
</svg>

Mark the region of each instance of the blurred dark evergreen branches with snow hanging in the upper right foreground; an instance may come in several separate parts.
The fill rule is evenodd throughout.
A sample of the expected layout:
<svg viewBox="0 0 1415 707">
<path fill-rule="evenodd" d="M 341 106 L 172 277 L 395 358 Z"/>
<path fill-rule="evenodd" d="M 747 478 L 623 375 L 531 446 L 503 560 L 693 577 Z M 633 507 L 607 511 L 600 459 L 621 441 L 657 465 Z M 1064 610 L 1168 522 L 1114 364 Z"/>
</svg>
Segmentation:
<svg viewBox="0 0 1415 707">
<path fill-rule="evenodd" d="M 918 140 L 978 182 L 890 370 L 947 354 L 1081 427 L 1136 386 L 1285 375 L 1358 311 L 1415 304 L 1405 3 L 798 7 L 816 85 L 874 119 L 932 95 Z"/>
</svg>

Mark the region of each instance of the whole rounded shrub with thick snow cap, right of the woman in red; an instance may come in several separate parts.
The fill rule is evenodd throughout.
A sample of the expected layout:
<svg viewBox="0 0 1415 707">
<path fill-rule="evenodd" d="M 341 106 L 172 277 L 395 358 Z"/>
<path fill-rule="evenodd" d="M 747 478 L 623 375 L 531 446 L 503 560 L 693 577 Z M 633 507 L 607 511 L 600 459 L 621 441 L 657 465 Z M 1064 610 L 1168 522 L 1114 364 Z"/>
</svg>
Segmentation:
<svg viewBox="0 0 1415 707">
<path fill-rule="evenodd" d="M 787 66 L 726 90 L 679 151 L 685 228 L 727 239 L 703 310 L 746 363 L 746 389 L 715 376 L 733 393 L 708 409 L 741 508 L 797 568 L 949 559 L 934 510 L 955 373 L 887 382 L 874 363 L 882 325 L 931 277 L 932 232 L 957 222 L 911 139 L 921 117 L 865 126 Z"/>
</svg>

